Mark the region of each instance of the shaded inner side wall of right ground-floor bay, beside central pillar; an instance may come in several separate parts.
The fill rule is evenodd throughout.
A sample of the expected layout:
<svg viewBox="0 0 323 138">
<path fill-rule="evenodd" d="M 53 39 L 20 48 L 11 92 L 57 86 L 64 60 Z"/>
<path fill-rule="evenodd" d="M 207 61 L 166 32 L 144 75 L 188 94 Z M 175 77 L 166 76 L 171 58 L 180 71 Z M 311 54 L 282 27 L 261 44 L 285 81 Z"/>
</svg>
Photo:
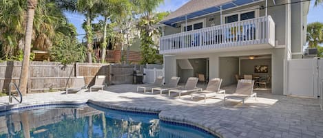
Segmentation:
<svg viewBox="0 0 323 138">
<path fill-rule="evenodd" d="M 219 58 L 220 78 L 222 78 L 222 86 L 236 84 L 235 75 L 239 73 L 239 58 L 224 57 Z"/>
</svg>

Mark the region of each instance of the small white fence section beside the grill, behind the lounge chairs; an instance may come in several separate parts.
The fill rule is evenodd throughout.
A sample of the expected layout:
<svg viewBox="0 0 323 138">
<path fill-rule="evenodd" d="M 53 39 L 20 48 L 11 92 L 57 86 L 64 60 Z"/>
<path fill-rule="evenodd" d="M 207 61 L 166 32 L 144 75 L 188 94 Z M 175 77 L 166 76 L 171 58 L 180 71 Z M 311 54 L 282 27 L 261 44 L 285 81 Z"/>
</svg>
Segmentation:
<svg viewBox="0 0 323 138">
<path fill-rule="evenodd" d="M 143 82 L 154 83 L 158 76 L 164 76 L 164 69 L 143 69 L 146 75 L 143 77 Z"/>
</svg>

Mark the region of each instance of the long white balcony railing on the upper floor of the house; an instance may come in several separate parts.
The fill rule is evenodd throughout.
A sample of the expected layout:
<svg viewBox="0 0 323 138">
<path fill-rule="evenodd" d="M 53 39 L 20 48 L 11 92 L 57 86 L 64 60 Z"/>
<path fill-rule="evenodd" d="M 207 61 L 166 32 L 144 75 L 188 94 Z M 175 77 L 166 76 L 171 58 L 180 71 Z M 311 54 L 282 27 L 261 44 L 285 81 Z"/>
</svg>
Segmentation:
<svg viewBox="0 0 323 138">
<path fill-rule="evenodd" d="M 160 54 L 259 44 L 275 46 L 275 23 L 271 16 L 163 36 Z"/>
</svg>

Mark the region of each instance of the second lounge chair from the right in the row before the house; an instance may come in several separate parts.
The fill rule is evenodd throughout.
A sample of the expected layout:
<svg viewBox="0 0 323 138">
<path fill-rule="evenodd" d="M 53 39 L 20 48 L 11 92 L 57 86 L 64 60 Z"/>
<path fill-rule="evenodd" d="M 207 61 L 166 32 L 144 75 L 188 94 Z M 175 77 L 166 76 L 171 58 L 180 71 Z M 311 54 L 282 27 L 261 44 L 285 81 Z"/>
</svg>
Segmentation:
<svg viewBox="0 0 323 138">
<path fill-rule="evenodd" d="M 213 78 L 207 84 L 207 89 L 205 89 L 204 91 L 191 93 L 191 99 L 193 100 L 194 96 L 204 97 L 204 102 L 207 102 L 207 97 L 214 97 L 218 93 L 223 93 L 223 96 L 225 97 L 225 90 L 220 89 L 221 83 L 222 83 L 222 79 Z"/>
</svg>

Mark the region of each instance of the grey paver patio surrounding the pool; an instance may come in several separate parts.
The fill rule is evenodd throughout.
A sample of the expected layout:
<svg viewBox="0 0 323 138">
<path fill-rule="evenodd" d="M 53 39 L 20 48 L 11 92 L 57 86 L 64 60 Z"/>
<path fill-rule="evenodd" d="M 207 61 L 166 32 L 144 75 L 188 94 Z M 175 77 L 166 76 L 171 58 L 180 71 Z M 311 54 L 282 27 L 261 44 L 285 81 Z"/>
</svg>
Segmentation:
<svg viewBox="0 0 323 138">
<path fill-rule="evenodd" d="M 227 93 L 234 91 L 227 87 Z M 0 111 L 34 104 L 90 102 L 110 108 L 159 113 L 160 119 L 187 123 L 211 133 L 228 137 L 316 137 L 323 138 L 323 111 L 319 100 L 258 93 L 257 100 L 247 100 L 245 105 L 230 100 L 222 106 L 222 95 L 207 99 L 182 99 L 158 93 L 136 93 L 136 85 L 123 84 L 99 92 L 75 94 L 35 93 L 23 97 L 22 104 L 8 105 L 8 97 L 0 97 Z"/>
</svg>

